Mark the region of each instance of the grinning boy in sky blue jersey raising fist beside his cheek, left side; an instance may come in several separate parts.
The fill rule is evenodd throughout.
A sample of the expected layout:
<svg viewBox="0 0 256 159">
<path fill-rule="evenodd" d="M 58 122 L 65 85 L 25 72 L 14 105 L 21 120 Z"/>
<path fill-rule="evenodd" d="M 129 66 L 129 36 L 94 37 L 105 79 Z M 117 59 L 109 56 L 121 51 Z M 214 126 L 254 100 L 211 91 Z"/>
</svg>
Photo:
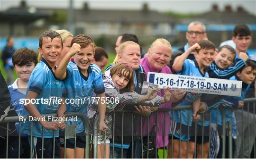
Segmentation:
<svg viewBox="0 0 256 159">
<path fill-rule="evenodd" d="M 106 112 L 106 103 L 104 102 L 106 99 L 105 89 L 101 69 L 97 65 L 91 64 L 96 46 L 93 40 L 84 34 L 75 36 L 71 46 L 69 52 L 60 61 L 55 75 L 57 78 L 64 80 L 65 88 L 67 89 L 67 99 L 82 99 L 83 102 L 67 103 L 67 111 L 77 111 L 86 116 L 88 102 L 91 100 L 93 92 L 95 92 L 96 96 L 100 98 L 98 102 L 99 132 L 104 132 L 108 128 L 104 122 Z M 69 62 L 72 57 L 74 57 L 74 62 Z M 84 100 L 84 98 L 86 99 Z M 67 125 L 73 124 L 74 122 L 67 123 Z M 76 125 L 76 156 L 74 156 L 74 139 L 67 139 L 67 158 L 83 158 L 85 148 L 84 131 L 85 127 L 78 118 Z"/>
</svg>

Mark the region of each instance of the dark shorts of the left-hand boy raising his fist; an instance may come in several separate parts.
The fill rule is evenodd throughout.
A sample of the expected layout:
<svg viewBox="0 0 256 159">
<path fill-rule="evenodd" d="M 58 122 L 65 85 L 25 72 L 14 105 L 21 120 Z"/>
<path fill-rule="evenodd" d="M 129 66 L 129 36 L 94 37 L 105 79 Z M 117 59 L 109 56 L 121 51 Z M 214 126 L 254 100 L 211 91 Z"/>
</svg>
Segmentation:
<svg viewBox="0 0 256 159">
<path fill-rule="evenodd" d="M 60 144 L 61 147 L 64 147 L 64 143 L 65 143 L 64 136 L 60 137 L 60 142 L 61 142 L 61 144 Z M 84 149 L 85 148 L 85 143 L 86 143 L 86 140 L 85 140 L 84 132 L 76 134 L 76 147 Z M 66 139 L 66 148 L 74 149 L 74 147 L 75 147 L 74 145 L 75 145 L 74 138 Z"/>
</svg>

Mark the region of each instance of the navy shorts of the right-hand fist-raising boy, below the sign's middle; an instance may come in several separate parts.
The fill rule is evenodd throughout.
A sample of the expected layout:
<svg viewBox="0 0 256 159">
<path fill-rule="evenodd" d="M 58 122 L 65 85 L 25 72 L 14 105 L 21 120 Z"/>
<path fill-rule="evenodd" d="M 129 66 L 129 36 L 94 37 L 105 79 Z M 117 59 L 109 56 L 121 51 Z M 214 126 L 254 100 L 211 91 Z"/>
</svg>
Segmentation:
<svg viewBox="0 0 256 159">
<path fill-rule="evenodd" d="M 172 139 L 172 135 L 174 135 L 174 139 L 181 139 L 182 141 L 188 141 L 190 140 L 191 126 L 186 126 L 172 120 L 169 134 L 170 134 L 169 139 Z"/>
</svg>

